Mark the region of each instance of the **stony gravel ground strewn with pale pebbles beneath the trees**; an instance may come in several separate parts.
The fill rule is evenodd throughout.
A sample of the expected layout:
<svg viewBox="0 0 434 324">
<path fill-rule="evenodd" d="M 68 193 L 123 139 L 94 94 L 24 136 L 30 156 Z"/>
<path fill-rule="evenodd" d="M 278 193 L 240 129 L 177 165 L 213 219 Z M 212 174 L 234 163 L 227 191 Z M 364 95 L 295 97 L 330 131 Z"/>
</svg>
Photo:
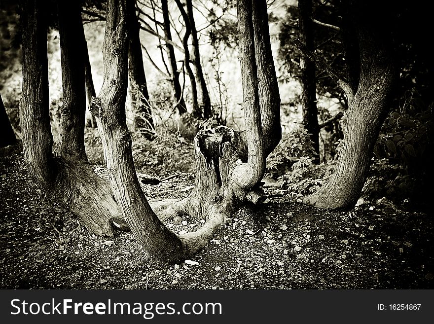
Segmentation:
<svg viewBox="0 0 434 324">
<path fill-rule="evenodd" d="M 94 169 L 105 177 L 104 166 Z M 193 175 L 180 173 L 143 189 L 152 198 L 182 198 L 193 183 Z M 130 232 L 89 234 L 37 189 L 22 153 L 3 152 L 0 288 L 434 288 L 431 215 L 401 211 L 386 199 L 328 212 L 290 200 L 278 187 L 266 191 L 262 206 L 237 209 L 191 260 L 161 265 Z M 167 226 L 180 233 L 200 222 Z"/>
</svg>

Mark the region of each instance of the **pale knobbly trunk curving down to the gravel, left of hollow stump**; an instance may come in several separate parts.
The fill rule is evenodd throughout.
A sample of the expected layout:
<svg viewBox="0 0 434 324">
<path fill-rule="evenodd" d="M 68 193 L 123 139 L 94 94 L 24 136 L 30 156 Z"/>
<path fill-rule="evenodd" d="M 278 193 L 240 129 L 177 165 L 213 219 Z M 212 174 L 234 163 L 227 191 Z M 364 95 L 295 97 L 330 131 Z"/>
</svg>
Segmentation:
<svg viewBox="0 0 434 324">
<path fill-rule="evenodd" d="M 132 232 L 157 259 L 186 257 L 181 240 L 158 219 L 140 187 L 125 120 L 128 77 L 127 5 L 109 0 L 103 45 L 104 82 L 91 105 L 101 132 L 113 194 Z"/>
</svg>

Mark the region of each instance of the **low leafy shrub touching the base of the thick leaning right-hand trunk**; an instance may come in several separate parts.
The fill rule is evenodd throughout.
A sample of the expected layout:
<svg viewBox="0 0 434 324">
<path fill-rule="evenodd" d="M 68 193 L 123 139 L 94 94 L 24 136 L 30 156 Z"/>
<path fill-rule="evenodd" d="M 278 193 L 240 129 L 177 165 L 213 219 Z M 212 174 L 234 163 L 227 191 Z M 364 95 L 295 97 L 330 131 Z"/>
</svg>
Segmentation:
<svg viewBox="0 0 434 324">
<path fill-rule="evenodd" d="M 311 157 L 303 156 L 283 176 L 282 188 L 298 197 L 315 193 L 332 173 L 332 164 L 314 164 Z"/>
</svg>

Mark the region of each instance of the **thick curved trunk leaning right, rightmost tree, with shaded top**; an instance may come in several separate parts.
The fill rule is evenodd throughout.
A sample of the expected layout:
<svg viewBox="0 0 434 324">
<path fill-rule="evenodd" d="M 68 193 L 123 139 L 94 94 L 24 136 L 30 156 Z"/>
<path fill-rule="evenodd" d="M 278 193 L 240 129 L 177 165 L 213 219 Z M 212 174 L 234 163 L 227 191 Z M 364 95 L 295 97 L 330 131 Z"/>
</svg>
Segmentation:
<svg viewBox="0 0 434 324">
<path fill-rule="evenodd" d="M 379 23 L 384 17 L 375 17 L 376 20 L 368 14 L 369 10 L 368 6 L 358 7 L 360 16 L 354 19 L 361 58 L 360 83 L 346 112 L 344 139 L 335 171 L 319 192 L 307 197 L 308 202 L 322 208 L 354 207 L 366 180 L 373 145 L 389 108 L 395 80 L 391 36 L 387 34 L 387 24 Z"/>
</svg>

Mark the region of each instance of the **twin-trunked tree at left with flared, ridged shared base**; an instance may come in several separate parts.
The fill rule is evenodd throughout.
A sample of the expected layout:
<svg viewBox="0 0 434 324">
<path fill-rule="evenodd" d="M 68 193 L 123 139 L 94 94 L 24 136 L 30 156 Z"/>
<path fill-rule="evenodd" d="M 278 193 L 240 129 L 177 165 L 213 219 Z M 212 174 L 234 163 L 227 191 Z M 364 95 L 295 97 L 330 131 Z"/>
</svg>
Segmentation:
<svg viewBox="0 0 434 324">
<path fill-rule="evenodd" d="M 84 43 L 79 5 L 59 1 L 62 85 L 61 132 L 53 154 L 48 98 L 47 20 L 43 1 L 22 1 L 23 96 L 20 123 L 24 158 L 37 186 L 69 207 L 90 232 L 113 236 L 124 225 L 109 184 L 93 173 L 84 150 Z"/>
</svg>

